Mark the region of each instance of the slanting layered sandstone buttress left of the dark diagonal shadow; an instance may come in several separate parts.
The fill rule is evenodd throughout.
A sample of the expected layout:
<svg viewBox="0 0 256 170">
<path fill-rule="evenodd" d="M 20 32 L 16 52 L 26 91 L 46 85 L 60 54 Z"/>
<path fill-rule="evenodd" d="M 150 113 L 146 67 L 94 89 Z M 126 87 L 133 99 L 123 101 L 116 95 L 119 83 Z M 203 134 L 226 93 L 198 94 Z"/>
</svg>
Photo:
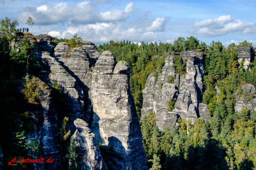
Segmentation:
<svg viewBox="0 0 256 170">
<path fill-rule="evenodd" d="M 67 128 L 70 129 L 73 134 L 76 130 L 73 121 L 83 117 L 84 94 L 76 82 L 76 79 L 68 73 L 55 57 L 51 57 L 48 52 L 43 52 L 41 60 L 45 63 L 42 66 L 43 73 L 41 79 L 49 83 L 49 85 L 57 82 L 61 87 L 61 91 L 64 93 L 65 102 L 67 104 L 64 116 L 70 118 Z"/>
</svg>

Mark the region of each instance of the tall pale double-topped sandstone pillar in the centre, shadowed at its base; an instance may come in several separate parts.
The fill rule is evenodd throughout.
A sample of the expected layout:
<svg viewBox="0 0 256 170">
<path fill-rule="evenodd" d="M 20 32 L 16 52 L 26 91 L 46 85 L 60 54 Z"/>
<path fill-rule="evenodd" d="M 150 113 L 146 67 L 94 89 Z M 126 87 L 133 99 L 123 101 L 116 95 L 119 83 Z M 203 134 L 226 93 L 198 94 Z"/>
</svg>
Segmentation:
<svg viewBox="0 0 256 170">
<path fill-rule="evenodd" d="M 129 79 L 127 63 L 120 61 L 116 64 L 113 54 L 104 51 L 92 75 L 93 123 L 90 128 L 98 142 L 113 145 L 113 150 L 120 157 L 118 169 L 146 170 L 140 124 Z"/>
</svg>

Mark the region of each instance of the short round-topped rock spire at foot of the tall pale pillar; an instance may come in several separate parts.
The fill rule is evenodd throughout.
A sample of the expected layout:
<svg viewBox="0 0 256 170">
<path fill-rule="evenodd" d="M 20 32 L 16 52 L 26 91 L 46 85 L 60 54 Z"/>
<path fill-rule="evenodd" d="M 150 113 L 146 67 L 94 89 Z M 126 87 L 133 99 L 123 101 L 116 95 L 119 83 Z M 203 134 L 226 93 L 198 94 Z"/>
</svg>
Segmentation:
<svg viewBox="0 0 256 170">
<path fill-rule="evenodd" d="M 99 150 L 99 144 L 95 139 L 95 134 L 92 133 L 88 124 L 82 119 L 74 121 L 76 132 L 71 137 L 75 145 L 81 150 L 78 154 L 82 160 L 80 164 L 86 165 L 84 170 L 107 170 L 107 166 L 102 159 Z"/>
</svg>

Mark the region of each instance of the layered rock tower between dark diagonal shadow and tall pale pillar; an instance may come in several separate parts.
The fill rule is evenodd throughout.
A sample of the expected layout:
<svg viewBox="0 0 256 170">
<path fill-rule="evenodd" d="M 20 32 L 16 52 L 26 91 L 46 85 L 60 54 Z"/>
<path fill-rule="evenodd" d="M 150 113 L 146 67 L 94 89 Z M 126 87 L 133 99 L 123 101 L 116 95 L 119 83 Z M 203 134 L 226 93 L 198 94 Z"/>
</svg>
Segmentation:
<svg viewBox="0 0 256 170">
<path fill-rule="evenodd" d="M 77 91 L 82 94 L 79 100 L 80 104 L 80 115 L 81 117 L 91 123 L 92 119 L 92 104 L 88 91 L 91 87 L 91 74 L 90 71 L 90 58 L 87 56 L 85 51 L 79 48 L 67 49 L 67 43 L 59 43 L 55 48 L 55 60 L 58 61 L 65 70 L 76 79 L 76 87 L 79 88 Z M 74 117 L 75 120 L 81 117 Z"/>
</svg>

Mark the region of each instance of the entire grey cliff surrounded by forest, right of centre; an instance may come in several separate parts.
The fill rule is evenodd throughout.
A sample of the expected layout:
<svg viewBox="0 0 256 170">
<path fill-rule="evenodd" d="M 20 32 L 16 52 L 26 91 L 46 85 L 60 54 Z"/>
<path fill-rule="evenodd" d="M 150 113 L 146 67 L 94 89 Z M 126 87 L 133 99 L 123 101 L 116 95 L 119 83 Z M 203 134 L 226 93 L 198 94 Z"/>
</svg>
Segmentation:
<svg viewBox="0 0 256 170">
<path fill-rule="evenodd" d="M 192 119 L 202 117 L 209 119 L 207 105 L 201 104 L 203 92 L 204 57 L 201 52 L 184 51 L 180 54 L 183 63 L 186 62 L 186 74 L 175 74 L 174 56 L 177 53 L 167 53 L 165 65 L 161 74 L 154 81 L 149 75 L 143 90 L 142 118 L 148 112 L 157 114 L 157 126 L 164 130 L 166 125 L 176 125 L 177 118 Z M 169 76 L 174 77 L 174 83 L 167 83 Z M 179 90 L 179 91 L 178 91 Z M 169 99 L 175 102 L 175 109 L 168 111 Z"/>
</svg>

